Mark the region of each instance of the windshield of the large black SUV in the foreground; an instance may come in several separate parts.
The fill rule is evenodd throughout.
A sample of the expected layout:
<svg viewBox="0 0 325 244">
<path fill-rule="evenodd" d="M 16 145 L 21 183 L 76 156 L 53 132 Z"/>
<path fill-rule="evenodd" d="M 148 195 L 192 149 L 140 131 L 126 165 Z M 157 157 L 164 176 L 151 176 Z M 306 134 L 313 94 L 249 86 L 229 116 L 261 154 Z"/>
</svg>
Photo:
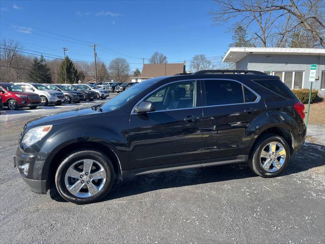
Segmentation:
<svg viewBox="0 0 325 244">
<path fill-rule="evenodd" d="M 113 99 L 109 100 L 108 102 L 104 103 L 101 108 L 105 112 L 113 111 L 125 105 L 128 101 L 133 99 L 139 93 L 143 92 L 143 90 L 150 87 L 155 82 L 141 82 L 138 85 L 132 86 L 131 88 L 125 90 L 125 92 L 117 95 Z"/>
</svg>

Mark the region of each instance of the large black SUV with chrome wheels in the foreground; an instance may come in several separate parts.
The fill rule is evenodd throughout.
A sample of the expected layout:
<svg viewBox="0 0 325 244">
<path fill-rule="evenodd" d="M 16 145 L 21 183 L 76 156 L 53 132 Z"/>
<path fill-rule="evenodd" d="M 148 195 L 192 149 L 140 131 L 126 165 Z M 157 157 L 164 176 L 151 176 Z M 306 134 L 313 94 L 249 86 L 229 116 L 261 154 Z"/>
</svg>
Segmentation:
<svg viewBox="0 0 325 244">
<path fill-rule="evenodd" d="M 101 106 L 29 121 L 14 165 L 32 191 L 55 185 L 79 204 L 103 198 L 114 177 L 244 162 L 274 177 L 304 144 L 304 115 L 279 77 L 262 72 L 153 78 Z"/>
</svg>

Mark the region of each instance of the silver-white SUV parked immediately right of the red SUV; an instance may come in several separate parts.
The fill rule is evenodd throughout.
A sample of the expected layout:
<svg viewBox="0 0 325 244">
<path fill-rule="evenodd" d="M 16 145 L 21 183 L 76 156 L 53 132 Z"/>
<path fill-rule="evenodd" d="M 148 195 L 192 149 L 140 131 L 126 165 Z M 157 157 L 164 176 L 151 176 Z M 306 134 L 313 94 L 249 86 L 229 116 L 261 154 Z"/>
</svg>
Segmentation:
<svg viewBox="0 0 325 244">
<path fill-rule="evenodd" d="M 24 92 L 33 92 L 41 97 L 41 106 L 47 106 L 49 104 L 61 105 L 64 102 L 64 95 L 61 92 L 50 90 L 45 85 L 39 83 L 23 83 L 15 82 L 15 85 L 21 87 Z"/>
</svg>

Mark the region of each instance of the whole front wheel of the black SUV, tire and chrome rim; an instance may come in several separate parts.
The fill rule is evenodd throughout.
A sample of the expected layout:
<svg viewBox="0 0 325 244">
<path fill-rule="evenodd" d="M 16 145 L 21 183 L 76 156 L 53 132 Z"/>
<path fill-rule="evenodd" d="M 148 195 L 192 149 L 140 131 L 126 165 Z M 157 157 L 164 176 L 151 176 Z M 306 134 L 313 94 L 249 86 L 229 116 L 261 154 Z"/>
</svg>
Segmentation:
<svg viewBox="0 0 325 244">
<path fill-rule="evenodd" d="M 67 201 L 87 204 L 106 196 L 114 182 L 110 159 L 100 151 L 82 150 L 69 155 L 59 165 L 55 185 Z"/>
</svg>

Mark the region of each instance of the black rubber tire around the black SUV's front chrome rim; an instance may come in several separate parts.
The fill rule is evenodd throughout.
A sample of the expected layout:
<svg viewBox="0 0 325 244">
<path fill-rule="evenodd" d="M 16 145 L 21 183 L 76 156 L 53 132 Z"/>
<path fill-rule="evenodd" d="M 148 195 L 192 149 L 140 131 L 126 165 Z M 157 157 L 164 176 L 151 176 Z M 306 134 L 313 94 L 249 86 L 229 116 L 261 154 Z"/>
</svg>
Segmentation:
<svg viewBox="0 0 325 244">
<path fill-rule="evenodd" d="M 75 162 L 83 159 L 92 159 L 102 164 L 107 176 L 105 185 L 99 193 L 97 193 L 94 196 L 84 197 L 84 198 L 75 196 L 72 193 L 70 193 L 64 182 L 64 177 L 69 167 L 73 165 Z M 99 201 L 100 199 L 105 197 L 108 194 L 108 192 L 111 190 L 113 186 L 113 182 L 114 182 L 114 168 L 111 160 L 106 155 L 102 154 L 100 151 L 95 151 L 95 150 L 84 149 L 80 151 L 74 151 L 72 154 L 70 154 L 66 159 L 62 161 L 55 174 L 55 185 L 58 193 L 67 201 L 76 204 L 88 204 L 88 203 Z"/>
</svg>

